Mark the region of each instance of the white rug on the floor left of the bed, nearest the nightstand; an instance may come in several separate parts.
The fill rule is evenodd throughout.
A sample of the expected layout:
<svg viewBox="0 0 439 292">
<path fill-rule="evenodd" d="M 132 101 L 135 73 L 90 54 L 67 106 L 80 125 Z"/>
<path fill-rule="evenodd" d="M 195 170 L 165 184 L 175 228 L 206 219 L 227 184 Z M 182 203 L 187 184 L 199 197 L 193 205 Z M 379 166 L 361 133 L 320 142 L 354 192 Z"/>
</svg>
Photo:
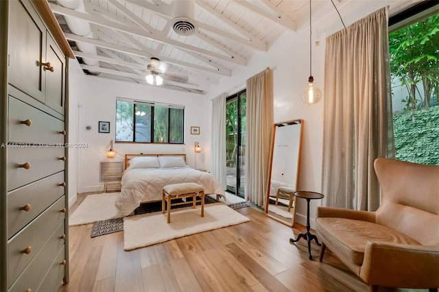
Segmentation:
<svg viewBox="0 0 439 292">
<path fill-rule="evenodd" d="M 94 223 L 121 217 L 115 207 L 115 200 L 121 193 L 88 195 L 69 217 L 69 226 Z"/>
</svg>

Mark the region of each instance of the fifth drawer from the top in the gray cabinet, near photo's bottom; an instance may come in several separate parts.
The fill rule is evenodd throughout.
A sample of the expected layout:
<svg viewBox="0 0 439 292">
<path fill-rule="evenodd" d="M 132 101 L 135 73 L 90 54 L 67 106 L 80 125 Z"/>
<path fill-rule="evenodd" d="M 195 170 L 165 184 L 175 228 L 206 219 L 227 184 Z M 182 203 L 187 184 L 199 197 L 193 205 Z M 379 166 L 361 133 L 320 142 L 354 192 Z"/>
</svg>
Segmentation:
<svg viewBox="0 0 439 292">
<path fill-rule="evenodd" d="M 47 271 L 52 269 L 53 265 L 58 267 L 64 267 L 62 261 L 64 260 L 64 221 L 58 226 L 54 234 L 50 237 L 49 241 L 38 252 L 32 262 L 25 268 L 23 273 L 12 284 L 9 291 L 37 291 L 38 286 L 45 277 Z M 62 258 L 58 261 L 58 256 L 61 253 Z M 62 269 L 63 271 L 63 269 Z M 58 284 L 59 286 L 59 284 Z M 43 291 L 43 290 L 42 290 Z M 45 291 L 58 291 L 57 290 L 45 290 Z"/>
</svg>

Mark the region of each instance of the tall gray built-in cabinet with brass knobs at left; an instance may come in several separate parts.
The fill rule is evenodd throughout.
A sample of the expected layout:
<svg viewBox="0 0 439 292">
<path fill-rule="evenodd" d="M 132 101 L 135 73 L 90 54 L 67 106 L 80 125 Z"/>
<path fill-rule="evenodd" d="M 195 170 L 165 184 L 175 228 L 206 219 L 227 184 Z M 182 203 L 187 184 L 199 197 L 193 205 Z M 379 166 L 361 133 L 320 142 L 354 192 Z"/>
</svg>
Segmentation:
<svg viewBox="0 0 439 292">
<path fill-rule="evenodd" d="M 58 291 L 69 278 L 68 58 L 38 1 L 0 1 L 0 291 Z"/>
</svg>

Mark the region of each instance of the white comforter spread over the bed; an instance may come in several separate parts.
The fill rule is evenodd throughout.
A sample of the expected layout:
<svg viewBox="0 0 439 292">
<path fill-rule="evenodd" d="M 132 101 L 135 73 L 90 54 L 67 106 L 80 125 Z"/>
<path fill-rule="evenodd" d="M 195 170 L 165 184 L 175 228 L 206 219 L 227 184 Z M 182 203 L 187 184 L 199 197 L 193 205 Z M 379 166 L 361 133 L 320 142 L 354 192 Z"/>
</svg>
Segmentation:
<svg viewBox="0 0 439 292">
<path fill-rule="evenodd" d="M 211 174 L 195 169 L 127 169 L 122 176 L 121 196 L 115 206 L 119 214 L 129 215 L 141 202 L 158 201 L 162 199 L 163 186 L 180 182 L 195 182 L 204 187 L 205 194 L 224 196 L 224 189 Z"/>
</svg>

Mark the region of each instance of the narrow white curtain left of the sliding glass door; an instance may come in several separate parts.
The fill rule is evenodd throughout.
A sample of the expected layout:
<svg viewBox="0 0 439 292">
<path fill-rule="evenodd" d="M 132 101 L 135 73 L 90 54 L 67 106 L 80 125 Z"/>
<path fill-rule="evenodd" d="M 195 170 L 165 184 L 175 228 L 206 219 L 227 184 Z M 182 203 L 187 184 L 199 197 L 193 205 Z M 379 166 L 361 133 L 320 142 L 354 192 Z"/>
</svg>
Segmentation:
<svg viewBox="0 0 439 292">
<path fill-rule="evenodd" d="M 226 93 L 212 99 L 211 173 L 224 190 L 226 184 Z"/>
</svg>

